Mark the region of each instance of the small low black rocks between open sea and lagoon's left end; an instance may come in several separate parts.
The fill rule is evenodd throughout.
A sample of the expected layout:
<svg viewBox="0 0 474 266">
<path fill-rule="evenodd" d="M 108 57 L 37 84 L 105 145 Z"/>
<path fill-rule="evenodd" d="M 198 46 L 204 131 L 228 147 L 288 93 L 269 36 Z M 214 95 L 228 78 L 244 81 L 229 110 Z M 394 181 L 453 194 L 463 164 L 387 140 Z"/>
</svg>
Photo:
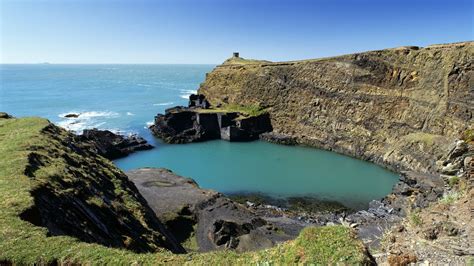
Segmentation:
<svg viewBox="0 0 474 266">
<path fill-rule="evenodd" d="M 81 141 L 92 144 L 92 149 L 107 159 L 114 160 L 128 156 L 135 151 L 149 150 L 153 146 L 137 135 L 122 136 L 108 130 L 85 129 L 79 135 Z"/>
</svg>

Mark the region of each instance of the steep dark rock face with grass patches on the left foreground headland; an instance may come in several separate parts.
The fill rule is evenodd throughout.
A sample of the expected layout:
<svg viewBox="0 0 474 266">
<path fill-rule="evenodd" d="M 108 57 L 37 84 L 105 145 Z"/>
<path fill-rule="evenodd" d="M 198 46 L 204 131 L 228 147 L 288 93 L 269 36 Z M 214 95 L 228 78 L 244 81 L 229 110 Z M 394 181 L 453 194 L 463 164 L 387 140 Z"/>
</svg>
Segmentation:
<svg viewBox="0 0 474 266">
<path fill-rule="evenodd" d="M 24 170 L 33 204 L 20 214 L 23 220 L 45 227 L 48 235 L 107 247 L 184 252 L 122 171 L 90 143 L 42 123 L 44 129 L 32 135 L 41 145 L 31 148 Z"/>
</svg>

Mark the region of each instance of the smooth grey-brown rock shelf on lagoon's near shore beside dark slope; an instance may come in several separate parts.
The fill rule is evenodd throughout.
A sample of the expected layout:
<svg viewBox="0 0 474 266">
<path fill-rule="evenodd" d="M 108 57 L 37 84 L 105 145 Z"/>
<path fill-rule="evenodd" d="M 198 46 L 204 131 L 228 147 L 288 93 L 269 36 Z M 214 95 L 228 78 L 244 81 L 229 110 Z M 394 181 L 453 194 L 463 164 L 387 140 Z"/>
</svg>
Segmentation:
<svg viewBox="0 0 474 266">
<path fill-rule="evenodd" d="M 127 172 L 155 214 L 187 248 L 249 251 L 296 237 L 298 222 L 268 221 L 222 194 L 205 190 L 167 169 Z"/>
</svg>

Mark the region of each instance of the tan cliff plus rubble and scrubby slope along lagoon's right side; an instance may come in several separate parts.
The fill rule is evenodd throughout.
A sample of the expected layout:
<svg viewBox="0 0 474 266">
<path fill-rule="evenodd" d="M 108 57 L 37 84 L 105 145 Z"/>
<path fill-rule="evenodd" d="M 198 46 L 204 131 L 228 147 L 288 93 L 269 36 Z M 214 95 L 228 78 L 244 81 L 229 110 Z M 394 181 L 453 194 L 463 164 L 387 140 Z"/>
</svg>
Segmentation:
<svg viewBox="0 0 474 266">
<path fill-rule="evenodd" d="M 473 43 L 464 42 L 282 63 L 231 58 L 207 75 L 199 93 L 211 105 L 267 106 L 273 131 L 262 140 L 323 148 L 401 173 L 392 193 L 368 210 L 302 219 L 357 228 L 379 263 L 461 263 L 472 256 L 466 247 L 474 239 L 471 226 L 453 229 L 452 218 L 432 212 L 473 206 L 467 196 L 473 182 L 473 53 Z M 387 232 L 393 238 L 385 239 Z M 420 237 L 410 240 L 410 232 Z M 444 243 L 457 244 L 440 247 L 438 233 Z M 436 248 L 420 244 L 426 235 Z"/>
</svg>

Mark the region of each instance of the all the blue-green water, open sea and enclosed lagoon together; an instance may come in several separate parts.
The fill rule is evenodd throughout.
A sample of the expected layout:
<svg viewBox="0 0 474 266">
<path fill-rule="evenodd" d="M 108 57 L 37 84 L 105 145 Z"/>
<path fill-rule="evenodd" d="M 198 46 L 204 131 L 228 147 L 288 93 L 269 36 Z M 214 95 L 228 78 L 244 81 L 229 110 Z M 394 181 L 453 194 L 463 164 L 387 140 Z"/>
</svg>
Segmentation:
<svg viewBox="0 0 474 266">
<path fill-rule="evenodd" d="M 115 163 L 124 170 L 165 167 L 223 193 L 313 196 L 360 209 L 388 194 L 396 174 L 332 152 L 262 141 L 164 144 L 147 123 L 187 104 L 212 65 L 0 65 L 0 111 L 42 116 L 69 130 L 138 133 L 155 149 Z M 81 113 L 79 119 L 64 114 Z"/>
</svg>

